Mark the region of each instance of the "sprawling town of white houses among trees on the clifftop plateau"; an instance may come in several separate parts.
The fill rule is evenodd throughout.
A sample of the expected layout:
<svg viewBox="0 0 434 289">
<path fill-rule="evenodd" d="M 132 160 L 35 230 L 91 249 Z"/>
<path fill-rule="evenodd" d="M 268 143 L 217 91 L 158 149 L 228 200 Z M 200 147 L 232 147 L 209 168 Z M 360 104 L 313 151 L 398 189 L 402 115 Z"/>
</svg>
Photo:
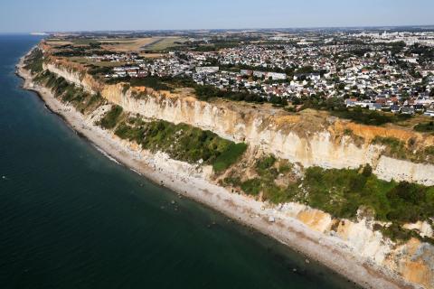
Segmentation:
<svg viewBox="0 0 434 289">
<path fill-rule="evenodd" d="M 432 32 L 242 37 L 189 35 L 184 45 L 167 47 L 157 56 L 106 51 L 85 58 L 96 66 L 109 63 L 95 74 L 111 82 L 182 79 L 186 86 L 249 94 L 255 101 L 290 104 L 295 111 L 306 103 L 316 107 L 317 102 L 334 99 L 342 107 L 434 117 Z M 226 45 L 217 46 L 220 42 Z"/>
</svg>

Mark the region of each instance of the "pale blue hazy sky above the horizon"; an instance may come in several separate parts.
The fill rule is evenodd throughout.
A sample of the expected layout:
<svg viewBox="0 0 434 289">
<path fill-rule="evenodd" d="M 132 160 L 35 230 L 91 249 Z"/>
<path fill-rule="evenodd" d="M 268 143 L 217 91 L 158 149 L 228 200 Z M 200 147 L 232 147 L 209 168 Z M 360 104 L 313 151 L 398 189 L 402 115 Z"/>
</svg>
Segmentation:
<svg viewBox="0 0 434 289">
<path fill-rule="evenodd" d="M 434 0 L 0 0 L 0 33 L 434 24 Z"/>
</svg>

